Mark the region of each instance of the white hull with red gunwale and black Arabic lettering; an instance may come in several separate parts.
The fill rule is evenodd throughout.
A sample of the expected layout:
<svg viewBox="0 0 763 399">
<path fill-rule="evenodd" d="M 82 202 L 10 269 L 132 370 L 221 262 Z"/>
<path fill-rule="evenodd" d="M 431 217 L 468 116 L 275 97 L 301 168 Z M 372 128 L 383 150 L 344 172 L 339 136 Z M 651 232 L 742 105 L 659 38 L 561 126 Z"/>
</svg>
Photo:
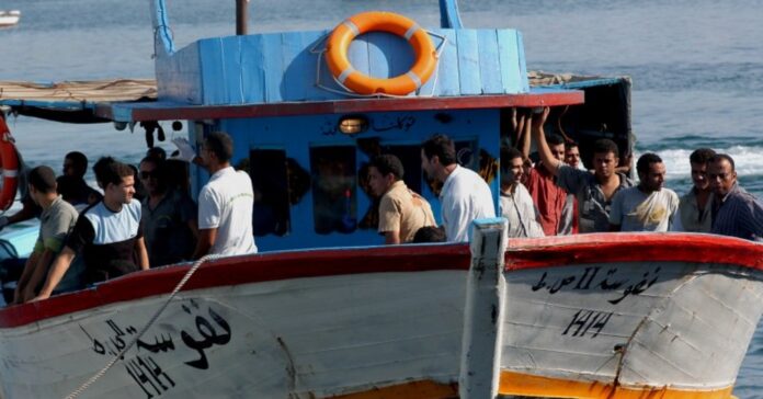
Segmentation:
<svg viewBox="0 0 763 399">
<path fill-rule="evenodd" d="M 709 253 L 702 236 L 656 236 L 669 248 L 686 246 L 662 255 L 639 252 L 644 237 L 524 240 L 509 248 L 505 269 L 496 265 L 503 290 L 486 290 L 500 298 L 499 309 L 476 308 L 496 323 L 489 380 L 499 392 L 730 396 L 763 307 L 763 249 L 714 237 L 714 249 L 737 253 L 732 259 L 758 258 L 690 261 Z M 630 252 L 591 251 L 606 244 Z M 612 259 L 590 262 L 591 253 Z M 468 342 L 462 349 L 464 329 L 480 329 L 466 310 L 468 263 L 465 246 L 213 262 L 81 397 L 453 397 L 459 375 L 464 381 L 462 363 L 472 355 Z M 0 310 L 2 397 L 72 392 L 137 335 L 166 300 L 159 294 L 185 271 L 137 273 Z"/>
</svg>

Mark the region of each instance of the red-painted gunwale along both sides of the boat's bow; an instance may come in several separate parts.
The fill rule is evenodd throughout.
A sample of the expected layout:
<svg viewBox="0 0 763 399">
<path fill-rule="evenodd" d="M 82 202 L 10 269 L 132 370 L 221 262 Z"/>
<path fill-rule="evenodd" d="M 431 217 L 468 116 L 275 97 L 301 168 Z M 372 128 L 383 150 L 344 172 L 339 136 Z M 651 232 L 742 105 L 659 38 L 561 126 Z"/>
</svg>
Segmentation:
<svg viewBox="0 0 763 399">
<path fill-rule="evenodd" d="M 603 262 L 692 262 L 763 271 L 763 246 L 695 233 L 592 233 L 510 240 L 505 272 Z M 362 262 L 357 262 L 362 259 Z M 209 261 L 182 292 L 269 281 L 365 273 L 467 271 L 466 243 L 308 249 Z M 252 262 L 254 261 L 254 262 Z M 254 263 L 254 264 L 252 264 Z M 0 328 L 15 328 L 92 308 L 169 294 L 190 263 L 134 273 L 76 293 L 0 309 Z"/>
</svg>

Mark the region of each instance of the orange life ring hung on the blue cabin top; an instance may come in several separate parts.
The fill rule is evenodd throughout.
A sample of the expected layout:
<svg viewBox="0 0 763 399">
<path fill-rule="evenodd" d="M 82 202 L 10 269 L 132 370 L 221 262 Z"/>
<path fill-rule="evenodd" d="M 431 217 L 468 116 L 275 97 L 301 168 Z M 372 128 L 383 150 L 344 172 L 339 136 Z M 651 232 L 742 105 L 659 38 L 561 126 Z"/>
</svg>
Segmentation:
<svg viewBox="0 0 763 399">
<path fill-rule="evenodd" d="M 413 67 L 389 79 L 372 78 L 352 67 L 348 59 L 350 43 L 361 34 L 372 31 L 389 32 L 403 37 L 413 48 Z M 333 77 L 358 94 L 408 94 L 424 84 L 437 66 L 437 54 L 426 31 L 412 20 L 384 11 L 355 14 L 339 24 L 326 44 L 326 62 Z"/>
</svg>

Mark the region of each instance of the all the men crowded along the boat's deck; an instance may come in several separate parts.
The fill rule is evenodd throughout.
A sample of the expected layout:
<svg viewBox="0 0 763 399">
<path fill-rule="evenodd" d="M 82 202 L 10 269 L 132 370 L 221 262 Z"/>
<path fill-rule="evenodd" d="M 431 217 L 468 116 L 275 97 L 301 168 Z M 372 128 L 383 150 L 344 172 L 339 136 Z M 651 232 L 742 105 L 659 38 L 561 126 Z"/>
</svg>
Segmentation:
<svg viewBox="0 0 763 399">
<path fill-rule="evenodd" d="M 610 139 L 594 142 L 593 168 L 585 170 L 574 142 L 546 135 L 548 114 L 546 107 L 519 115 L 516 147 L 500 151 L 498 209 L 509 220 L 509 237 L 692 231 L 763 241 L 763 205 L 739 185 L 730 156 L 707 148 L 692 152 L 694 186 L 679 197 L 664 187 L 665 166 L 659 156 L 648 152 L 638 159 L 635 184 L 618 167 L 620 152 Z M 80 152 L 66 156 L 59 178 L 45 166 L 25 173 L 23 208 L 0 217 L 0 229 L 34 216 L 41 220 L 13 303 L 206 254 L 257 252 L 252 183 L 230 166 L 231 138 L 213 133 L 198 155 L 187 141 L 174 141 L 178 156 L 166 159 L 160 149 L 149 150 L 137 170 L 111 157 L 98 160 L 93 171 L 103 194 L 84 182 L 88 160 Z M 529 161 L 531 141 L 539 158 L 535 164 Z M 187 167 L 179 168 L 180 161 L 210 174 L 198 204 L 189 194 Z M 496 216 L 489 185 L 456 162 L 447 136 L 437 134 L 423 142 L 421 168 L 442 184 L 441 226 L 428 201 L 403 182 L 397 157 L 382 155 L 369 162 L 368 186 L 379 198 L 378 232 L 385 243 L 468 241 L 472 220 Z"/>
</svg>

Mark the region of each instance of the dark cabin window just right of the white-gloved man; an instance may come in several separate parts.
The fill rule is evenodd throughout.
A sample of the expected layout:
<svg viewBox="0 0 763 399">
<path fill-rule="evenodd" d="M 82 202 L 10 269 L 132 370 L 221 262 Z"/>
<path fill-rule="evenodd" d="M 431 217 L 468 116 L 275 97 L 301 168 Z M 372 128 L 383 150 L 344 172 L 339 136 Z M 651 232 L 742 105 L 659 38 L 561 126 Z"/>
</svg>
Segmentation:
<svg viewBox="0 0 763 399">
<path fill-rule="evenodd" d="M 254 236 L 285 236 L 291 229 L 286 151 L 253 149 L 249 175 L 254 191 Z"/>
</svg>

